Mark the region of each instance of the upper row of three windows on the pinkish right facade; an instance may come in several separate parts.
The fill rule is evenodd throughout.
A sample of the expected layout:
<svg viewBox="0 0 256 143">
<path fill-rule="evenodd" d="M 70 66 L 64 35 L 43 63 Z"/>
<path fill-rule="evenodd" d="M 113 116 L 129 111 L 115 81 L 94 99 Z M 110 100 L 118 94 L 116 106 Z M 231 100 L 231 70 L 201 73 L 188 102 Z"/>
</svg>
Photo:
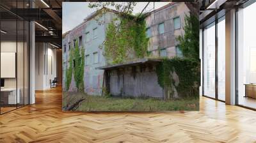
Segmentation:
<svg viewBox="0 0 256 143">
<path fill-rule="evenodd" d="M 173 19 L 173 26 L 174 29 L 180 29 L 180 17 L 175 17 Z M 158 33 L 163 34 L 164 33 L 164 22 L 158 24 Z M 150 37 L 151 35 L 151 30 L 150 27 L 147 28 L 147 37 Z"/>
</svg>

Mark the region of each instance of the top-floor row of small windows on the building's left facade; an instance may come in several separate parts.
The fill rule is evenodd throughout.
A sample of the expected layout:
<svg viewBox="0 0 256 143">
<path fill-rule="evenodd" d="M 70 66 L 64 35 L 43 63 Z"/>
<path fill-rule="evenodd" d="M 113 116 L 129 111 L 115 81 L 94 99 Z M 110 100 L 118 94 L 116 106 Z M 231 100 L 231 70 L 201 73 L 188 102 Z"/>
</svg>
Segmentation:
<svg viewBox="0 0 256 143">
<path fill-rule="evenodd" d="M 97 33 L 97 27 L 93 28 L 93 36 L 92 38 L 95 39 L 98 37 L 98 33 Z M 90 36 L 90 32 L 86 32 L 85 33 L 85 36 L 86 36 L 86 42 L 90 41 L 91 40 L 91 36 Z M 78 46 L 80 47 L 81 45 L 83 45 L 83 36 L 79 36 L 79 43 L 78 43 Z M 76 46 L 76 39 L 73 40 L 73 47 Z M 71 42 L 68 42 L 68 50 L 71 49 Z M 67 51 L 67 46 L 64 45 L 64 52 Z"/>
</svg>

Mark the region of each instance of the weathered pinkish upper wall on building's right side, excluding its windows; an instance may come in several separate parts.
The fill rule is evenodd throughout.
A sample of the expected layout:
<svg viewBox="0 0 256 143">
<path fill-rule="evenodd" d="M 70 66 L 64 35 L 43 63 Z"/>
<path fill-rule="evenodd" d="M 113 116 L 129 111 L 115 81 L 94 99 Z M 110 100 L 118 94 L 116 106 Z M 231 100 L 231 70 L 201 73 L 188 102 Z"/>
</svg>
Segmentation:
<svg viewBox="0 0 256 143">
<path fill-rule="evenodd" d="M 150 27 L 151 36 L 148 42 L 148 50 L 152 51 L 154 57 L 159 57 L 159 49 L 166 49 L 168 57 L 176 56 L 175 46 L 179 45 L 177 36 L 184 34 L 185 15 L 189 15 L 189 8 L 185 3 L 173 3 L 171 6 L 152 11 L 146 17 L 147 27 Z M 180 17 L 180 29 L 174 29 L 173 19 Z M 158 24 L 164 22 L 164 33 L 159 34 Z"/>
</svg>

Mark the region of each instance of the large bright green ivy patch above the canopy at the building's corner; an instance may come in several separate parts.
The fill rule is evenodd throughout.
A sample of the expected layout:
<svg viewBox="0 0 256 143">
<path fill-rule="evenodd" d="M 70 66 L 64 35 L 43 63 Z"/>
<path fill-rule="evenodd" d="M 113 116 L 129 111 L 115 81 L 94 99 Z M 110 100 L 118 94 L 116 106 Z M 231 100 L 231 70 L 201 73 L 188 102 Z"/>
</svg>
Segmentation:
<svg viewBox="0 0 256 143">
<path fill-rule="evenodd" d="M 122 63 L 147 56 L 148 38 L 143 17 L 123 15 L 120 24 L 113 20 L 106 31 L 104 56 L 108 63 Z"/>
</svg>

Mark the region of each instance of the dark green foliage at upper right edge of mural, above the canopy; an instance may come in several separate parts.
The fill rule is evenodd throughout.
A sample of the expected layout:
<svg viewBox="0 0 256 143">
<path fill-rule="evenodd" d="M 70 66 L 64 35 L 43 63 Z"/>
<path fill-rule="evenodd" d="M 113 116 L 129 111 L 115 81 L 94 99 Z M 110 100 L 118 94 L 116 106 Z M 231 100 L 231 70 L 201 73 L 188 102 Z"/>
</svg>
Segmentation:
<svg viewBox="0 0 256 143">
<path fill-rule="evenodd" d="M 195 15 L 186 15 L 183 27 L 185 34 L 177 38 L 184 57 L 199 61 L 199 21 Z"/>
</svg>

